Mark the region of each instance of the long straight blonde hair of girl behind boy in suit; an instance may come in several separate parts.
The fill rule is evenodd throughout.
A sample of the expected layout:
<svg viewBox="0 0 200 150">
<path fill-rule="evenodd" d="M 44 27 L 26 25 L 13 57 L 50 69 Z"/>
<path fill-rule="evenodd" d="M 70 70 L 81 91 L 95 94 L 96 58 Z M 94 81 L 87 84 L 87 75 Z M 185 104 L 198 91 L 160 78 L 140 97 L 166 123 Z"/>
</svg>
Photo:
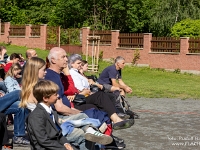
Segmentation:
<svg viewBox="0 0 200 150">
<path fill-rule="evenodd" d="M 19 107 L 26 108 L 33 87 L 38 82 L 39 70 L 45 65 L 45 61 L 38 57 L 32 57 L 26 62 L 22 77 L 21 101 Z"/>
</svg>

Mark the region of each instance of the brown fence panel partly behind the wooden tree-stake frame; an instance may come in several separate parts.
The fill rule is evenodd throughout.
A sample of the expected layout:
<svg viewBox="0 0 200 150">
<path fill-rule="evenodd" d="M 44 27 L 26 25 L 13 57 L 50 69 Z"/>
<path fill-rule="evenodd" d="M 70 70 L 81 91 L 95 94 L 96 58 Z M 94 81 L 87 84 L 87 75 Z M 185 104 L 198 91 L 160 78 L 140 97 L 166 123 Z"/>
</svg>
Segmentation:
<svg viewBox="0 0 200 150">
<path fill-rule="evenodd" d="M 90 30 L 89 36 L 100 36 L 100 44 L 111 44 L 110 30 Z M 90 44 L 92 44 L 92 41 L 92 39 L 89 39 Z"/>
</svg>

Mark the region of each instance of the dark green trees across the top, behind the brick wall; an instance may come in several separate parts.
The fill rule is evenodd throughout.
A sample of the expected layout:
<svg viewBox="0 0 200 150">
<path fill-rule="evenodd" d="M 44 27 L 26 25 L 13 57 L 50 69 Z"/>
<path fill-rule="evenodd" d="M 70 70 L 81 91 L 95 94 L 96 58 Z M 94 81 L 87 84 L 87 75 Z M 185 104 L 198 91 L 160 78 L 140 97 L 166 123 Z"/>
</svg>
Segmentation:
<svg viewBox="0 0 200 150">
<path fill-rule="evenodd" d="M 199 8 L 199 0 L 1 0 L 0 18 L 13 24 L 89 26 L 169 36 L 176 23 L 200 19 Z"/>
</svg>

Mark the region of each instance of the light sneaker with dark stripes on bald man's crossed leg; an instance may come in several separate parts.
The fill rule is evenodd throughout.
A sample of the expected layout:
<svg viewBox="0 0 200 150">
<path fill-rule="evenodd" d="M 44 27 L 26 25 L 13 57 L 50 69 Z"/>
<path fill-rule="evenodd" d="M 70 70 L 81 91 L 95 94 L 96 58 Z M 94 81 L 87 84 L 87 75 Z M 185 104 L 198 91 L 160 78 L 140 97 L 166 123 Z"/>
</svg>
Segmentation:
<svg viewBox="0 0 200 150">
<path fill-rule="evenodd" d="M 97 131 L 94 134 L 86 132 L 85 139 L 91 142 L 102 144 L 102 145 L 110 144 L 113 141 L 113 138 L 111 136 L 102 134 Z"/>
</svg>

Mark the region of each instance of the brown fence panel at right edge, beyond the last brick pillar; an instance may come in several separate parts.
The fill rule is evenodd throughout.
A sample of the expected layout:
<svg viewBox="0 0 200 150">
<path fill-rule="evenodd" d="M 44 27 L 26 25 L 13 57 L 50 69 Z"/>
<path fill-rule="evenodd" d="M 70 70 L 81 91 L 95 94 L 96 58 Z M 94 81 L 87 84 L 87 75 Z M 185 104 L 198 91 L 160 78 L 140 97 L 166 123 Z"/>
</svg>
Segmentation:
<svg viewBox="0 0 200 150">
<path fill-rule="evenodd" d="M 189 53 L 200 53 L 200 37 L 189 39 Z"/>
</svg>

